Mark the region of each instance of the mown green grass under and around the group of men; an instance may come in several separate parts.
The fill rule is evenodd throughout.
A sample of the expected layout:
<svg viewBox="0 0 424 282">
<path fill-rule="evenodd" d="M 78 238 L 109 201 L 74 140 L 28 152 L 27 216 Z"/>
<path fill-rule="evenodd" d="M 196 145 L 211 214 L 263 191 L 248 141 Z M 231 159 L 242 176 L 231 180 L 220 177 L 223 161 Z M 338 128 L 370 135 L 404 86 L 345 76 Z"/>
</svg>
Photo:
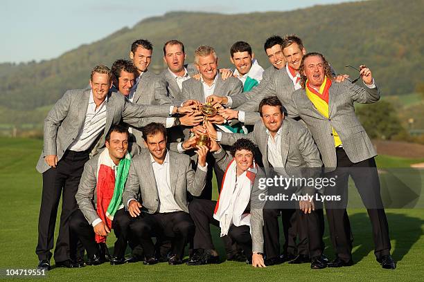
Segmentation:
<svg viewBox="0 0 424 282">
<path fill-rule="evenodd" d="M 35 163 L 42 150 L 42 140 L 0 140 L 0 269 L 37 267 L 37 220 L 42 191 L 42 178 Z M 415 160 L 379 156 L 380 167 L 408 166 Z M 423 159 L 421 159 L 421 162 Z M 386 166 L 387 164 L 387 166 Z M 87 266 L 81 269 L 53 269 L 48 281 L 423 281 L 424 280 L 424 209 L 387 209 L 392 254 L 398 261 L 396 270 L 382 270 L 373 255 L 371 225 L 364 209 L 349 210 L 355 238 L 355 265 L 341 269 L 310 270 L 310 265 L 276 265 L 254 269 L 244 263 L 223 261 L 219 265 Z M 59 216 L 58 216 L 59 218 Z M 58 230 L 56 230 L 57 232 Z M 224 254 L 218 230 L 214 242 Z M 281 232 L 282 234 L 282 232 Z M 325 235 L 326 255 L 333 259 L 328 230 Z M 108 238 L 112 248 L 114 236 Z M 54 261 L 52 260 L 52 265 Z M 0 277 L 3 281 L 4 277 Z M 41 280 L 44 281 L 44 280 Z"/>
</svg>

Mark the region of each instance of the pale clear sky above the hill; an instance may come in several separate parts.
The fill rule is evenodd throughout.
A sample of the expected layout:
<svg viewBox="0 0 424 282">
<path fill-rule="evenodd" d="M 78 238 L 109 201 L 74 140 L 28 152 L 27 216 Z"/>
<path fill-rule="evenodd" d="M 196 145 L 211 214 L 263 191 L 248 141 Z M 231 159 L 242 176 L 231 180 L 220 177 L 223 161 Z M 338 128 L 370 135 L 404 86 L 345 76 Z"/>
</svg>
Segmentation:
<svg viewBox="0 0 424 282">
<path fill-rule="evenodd" d="M 147 17 L 175 10 L 227 14 L 287 11 L 351 0 L 1 0 L 0 62 L 52 59 Z M 103 21 L 102 28 L 92 23 Z"/>
</svg>

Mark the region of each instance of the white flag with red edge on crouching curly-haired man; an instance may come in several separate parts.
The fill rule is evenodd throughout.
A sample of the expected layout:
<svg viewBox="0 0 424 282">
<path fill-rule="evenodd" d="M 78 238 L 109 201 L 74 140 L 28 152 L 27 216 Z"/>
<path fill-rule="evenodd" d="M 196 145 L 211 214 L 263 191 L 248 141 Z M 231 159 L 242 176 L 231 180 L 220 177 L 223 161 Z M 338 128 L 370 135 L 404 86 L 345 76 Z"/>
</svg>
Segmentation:
<svg viewBox="0 0 424 282">
<path fill-rule="evenodd" d="M 250 214 L 244 214 L 249 205 L 251 189 L 258 167 L 255 163 L 240 176 L 237 176 L 236 160 L 228 164 L 222 180 L 221 193 L 215 205 L 213 218 L 220 222 L 220 236 L 228 234 L 231 224 L 250 227 Z"/>
</svg>

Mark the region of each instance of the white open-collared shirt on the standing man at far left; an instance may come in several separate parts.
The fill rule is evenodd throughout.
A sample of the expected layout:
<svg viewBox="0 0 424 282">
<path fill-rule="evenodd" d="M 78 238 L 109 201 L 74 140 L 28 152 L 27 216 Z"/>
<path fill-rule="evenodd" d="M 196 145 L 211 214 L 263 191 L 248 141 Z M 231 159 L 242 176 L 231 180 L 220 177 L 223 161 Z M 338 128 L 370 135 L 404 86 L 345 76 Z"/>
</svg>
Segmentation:
<svg viewBox="0 0 424 282">
<path fill-rule="evenodd" d="M 100 104 L 96 109 L 96 103 L 93 98 L 93 91 L 90 91 L 87 113 L 85 113 L 84 126 L 80 129 L 76 140 L 69 146 L 71 151 L 86 151 L 91 147 L 98 135 L 105 130 L 106 126 L 106 102 Z"/>
</svg>

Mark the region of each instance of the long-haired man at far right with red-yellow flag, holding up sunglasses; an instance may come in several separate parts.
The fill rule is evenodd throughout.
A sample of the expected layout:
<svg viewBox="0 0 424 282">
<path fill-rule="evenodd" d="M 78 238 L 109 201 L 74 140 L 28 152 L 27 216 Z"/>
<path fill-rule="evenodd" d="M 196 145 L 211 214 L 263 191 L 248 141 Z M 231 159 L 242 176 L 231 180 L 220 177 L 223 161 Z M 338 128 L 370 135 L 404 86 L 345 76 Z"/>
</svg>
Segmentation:
<svg viewBox="0 0 424 282">
<path fill-rule="evenodd" d="M 349 81 L 333 82 L 330 65 L 322 54 L 303 56 L 301 85 L 293 95 L 291 112 L 299 115 L 312 133 L 328 175 L 337 178 L 337 195 L 346 195 L 351 176 L 366 207 L 373 227 L 374 254 L 383 268 L 394 269 L 390 256 L 389 226 L 380 196 L 380 182 L 374 157 L 376 151 L 355 115 L 354 102 L 369 104 L 380 99 L 371 71 L 360 67 L 363 86 Z M 312 106 L 313 105 L 313 106 Z M 330 191 L 331 192 L 331 191 Z M 352 265 L 351 226 L 345 205 L 326 204 L 330 236 L 336 259 L 329 267 Z"/>
</svg>

